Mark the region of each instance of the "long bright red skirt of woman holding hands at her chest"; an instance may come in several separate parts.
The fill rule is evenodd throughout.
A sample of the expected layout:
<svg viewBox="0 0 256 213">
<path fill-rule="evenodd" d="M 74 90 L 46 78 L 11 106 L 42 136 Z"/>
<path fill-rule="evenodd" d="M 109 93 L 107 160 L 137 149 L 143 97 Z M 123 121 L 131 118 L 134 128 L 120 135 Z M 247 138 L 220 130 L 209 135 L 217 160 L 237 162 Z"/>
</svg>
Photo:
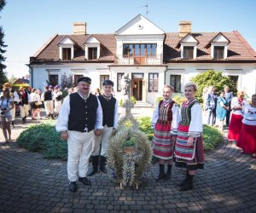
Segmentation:
<svg viewBox="0 0 256 213">
<path fill-rule="evenodd" d="M 231 115 L 228 139 L 238 141 L 241 131 L 241 120 L 241 115 Z"/>
</svg>

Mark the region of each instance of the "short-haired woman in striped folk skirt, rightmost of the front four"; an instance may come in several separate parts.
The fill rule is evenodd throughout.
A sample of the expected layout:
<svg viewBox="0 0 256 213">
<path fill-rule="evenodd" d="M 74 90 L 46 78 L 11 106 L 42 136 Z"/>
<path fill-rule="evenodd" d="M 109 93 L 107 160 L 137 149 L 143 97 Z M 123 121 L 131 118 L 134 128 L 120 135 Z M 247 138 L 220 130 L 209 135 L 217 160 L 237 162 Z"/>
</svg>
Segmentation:
<svg viewBox="0 0 256 213">
<path fill-rule="evenodd" d="M 204 147 L 201 138 L 202 111 L 199 101 L 195 99 L 195 83 L 186 83 L 184 95 L 187 101 L 183 103 L 180 111 L 180 122 L 177 128 L 177 140 L 175 145 L 175 166 L 185 168 L 187 176 L 178 183 L 182 191 L 193 188 L 193 177 L 196 170 L 203 169 Z"/>
</svg>

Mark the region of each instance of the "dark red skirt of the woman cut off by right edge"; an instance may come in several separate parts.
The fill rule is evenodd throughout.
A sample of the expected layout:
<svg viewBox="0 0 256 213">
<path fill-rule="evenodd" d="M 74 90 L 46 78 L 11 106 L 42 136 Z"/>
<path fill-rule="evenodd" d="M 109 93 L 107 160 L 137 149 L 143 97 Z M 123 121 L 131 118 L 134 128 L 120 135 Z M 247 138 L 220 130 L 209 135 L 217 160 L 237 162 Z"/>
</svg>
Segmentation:
<svg viewBox="0 0 256 213">
<path fill-rule="evenodd" d="M 245 153 L 256 153 L 256 126 L 241 124 L 241 133 L 236 146 Z"/>
</svg>

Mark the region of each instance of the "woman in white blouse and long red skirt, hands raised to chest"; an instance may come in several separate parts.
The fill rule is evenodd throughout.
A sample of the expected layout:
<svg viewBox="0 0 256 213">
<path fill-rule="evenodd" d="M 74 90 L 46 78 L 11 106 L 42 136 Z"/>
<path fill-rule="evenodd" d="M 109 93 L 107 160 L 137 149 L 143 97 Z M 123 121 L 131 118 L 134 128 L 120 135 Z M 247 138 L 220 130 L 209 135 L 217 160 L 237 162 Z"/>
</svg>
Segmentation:
<svg viewBox="0 0 256 213">
<path fill-rule="evenodd" d="M 241 130 L 241 109 L 243 106 L 247 105 L 247 101 L 244 99 L 244 92 L 238 91 L 237 96 L 232 98 L 231 101 L 231 119 L 230 119 L 230 127 L 228 139 L 229 141 L 238 141 Z"/>
</svg>

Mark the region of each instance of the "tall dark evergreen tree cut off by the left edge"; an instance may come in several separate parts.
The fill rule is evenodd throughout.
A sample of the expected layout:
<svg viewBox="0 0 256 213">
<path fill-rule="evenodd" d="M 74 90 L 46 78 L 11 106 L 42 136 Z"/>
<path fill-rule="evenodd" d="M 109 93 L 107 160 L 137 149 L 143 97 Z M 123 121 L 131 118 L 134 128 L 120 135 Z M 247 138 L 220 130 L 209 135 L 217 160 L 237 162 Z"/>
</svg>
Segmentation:
<svg viewBox="0 0 256 213">
<path fill-rule="evenodd" d="M 6 3 L 5 0 L 0 0 L 0 11 L 5 6 L 5 3 Z M 6 66 L 3 64 L 3 61 L 5 61 L 5 59 L 6 59 L 3 56 L 3 54 L 6 52 L 6 50 L 4 48 L 7 47 L 7 45 L 5 45 L 3 42 L 3 37 L 4 37 L 3 27 L 0 26 L 0 87 L 1 88 L 2 88 L 3 83 L 8 81 L 6 73 L 3 71 L 6 68 Z"/>
</svg>

